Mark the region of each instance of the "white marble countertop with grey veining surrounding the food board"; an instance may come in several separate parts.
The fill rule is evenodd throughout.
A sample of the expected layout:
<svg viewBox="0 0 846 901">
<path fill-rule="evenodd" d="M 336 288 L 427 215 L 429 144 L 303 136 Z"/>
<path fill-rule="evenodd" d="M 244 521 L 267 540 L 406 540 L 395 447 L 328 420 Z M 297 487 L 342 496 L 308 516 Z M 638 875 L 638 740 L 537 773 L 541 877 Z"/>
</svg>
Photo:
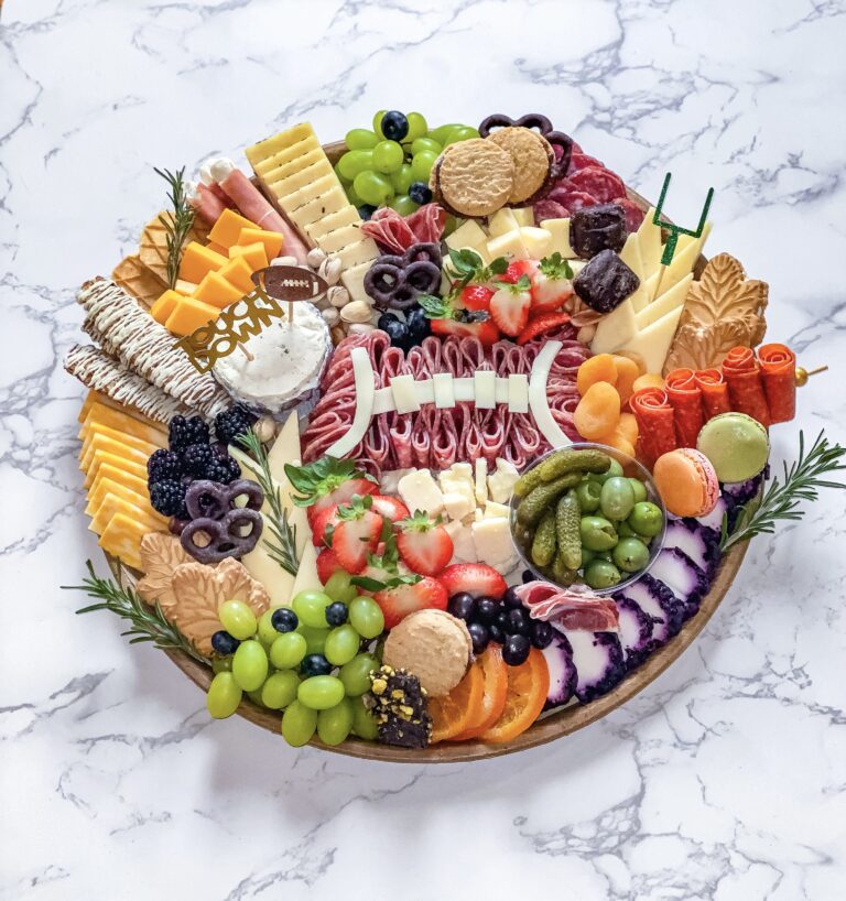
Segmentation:
<svg viewBox="0 0 846 901">
<path fill-rule="evenodd" d="M 425 12 L 424 12 L 425 11 Z M 846 879 L 843 497 L 753 543 L 716 616 L 626 707 L 517 757 L 377 766 L 210 724 L 160 652 L 76 617 L 76 287 L 189 170 L 302 119 L 546 112 L 709 252 L 770 282 L 846 437 L 842 0 L 7 0 L 0 20 L 0 899 L 833 901 Z M 688 207 L 685 207 L 685 204 Z M 102 568 L 102 565 L 100 565 Z"/>
</svg>

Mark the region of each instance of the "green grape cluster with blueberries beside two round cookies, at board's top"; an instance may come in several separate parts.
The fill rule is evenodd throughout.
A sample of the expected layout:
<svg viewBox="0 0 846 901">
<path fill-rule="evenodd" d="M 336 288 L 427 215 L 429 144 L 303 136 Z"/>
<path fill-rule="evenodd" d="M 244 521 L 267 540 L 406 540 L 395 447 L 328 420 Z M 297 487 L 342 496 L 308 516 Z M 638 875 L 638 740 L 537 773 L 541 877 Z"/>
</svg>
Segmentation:
<svg viewBox="0 0 846 901">
<path fill-rule="evenodd" d="M 430 129 L 420 112 L 381 109 L 373 117 L 372 130 L 354 128 L 347 132 L 347 152 L 335 172 L 362 218 L 369 218 L 380 206 L 408 216 L 431 199 L 429 176 L 441 151 L 456 141 L 478 137 L 478 130 L 469 126 Z"/>
</svg>

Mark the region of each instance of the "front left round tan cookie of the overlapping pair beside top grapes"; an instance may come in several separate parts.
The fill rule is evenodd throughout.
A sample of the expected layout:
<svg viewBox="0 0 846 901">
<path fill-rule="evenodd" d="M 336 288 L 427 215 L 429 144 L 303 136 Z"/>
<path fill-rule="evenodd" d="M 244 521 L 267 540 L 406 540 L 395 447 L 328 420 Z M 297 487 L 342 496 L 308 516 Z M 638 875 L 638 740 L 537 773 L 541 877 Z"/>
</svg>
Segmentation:
<svg viewBox="0 0 846 901">
<path fill-rule="evenodd" d="M 430 186 L 442 206 L 479 218 L 501 209 L 514 188 L 514 161 L 481 138 L 449 144 L 435 162 Z"/>
</svg>

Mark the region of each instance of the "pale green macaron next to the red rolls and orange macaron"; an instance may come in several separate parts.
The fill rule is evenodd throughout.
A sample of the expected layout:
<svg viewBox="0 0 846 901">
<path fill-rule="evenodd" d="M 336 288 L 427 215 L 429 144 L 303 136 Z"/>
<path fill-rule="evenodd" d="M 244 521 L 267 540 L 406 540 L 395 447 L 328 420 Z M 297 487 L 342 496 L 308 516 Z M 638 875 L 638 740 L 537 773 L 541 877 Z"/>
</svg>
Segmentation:
<svg viewBox="0 0 846 901">
<path fill-rule="evenodd" d="M 753 478 L 770 456 L 767 430 L 746 413 L 720 413 L 708 420 L 696 447 L 711 460 L 720 481 Z"/>
</svg>

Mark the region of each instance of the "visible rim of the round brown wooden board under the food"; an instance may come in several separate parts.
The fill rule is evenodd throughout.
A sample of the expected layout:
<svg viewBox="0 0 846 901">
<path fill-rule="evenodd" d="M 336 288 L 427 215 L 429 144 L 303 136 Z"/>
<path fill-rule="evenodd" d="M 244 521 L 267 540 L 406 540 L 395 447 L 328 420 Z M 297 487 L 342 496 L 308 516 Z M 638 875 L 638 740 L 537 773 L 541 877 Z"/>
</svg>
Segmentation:
<svg viewBox="0 0 846 901">
<path fill-rule="evenodd" d="M 338 158 L 346 151 L 346 146 L 343 141 L 336 141 L 330 144 L 325 144 L 324 150 L 330 162 L 335 164 Z M 640 194 L 630 188 L 627 188 L 627 193 L 630 199 L 638 204 L 641 209 L 647 210 L 651 206 L 644 197 L 641 197 Z M 707 259 L 705 257 L 699 257 L 696 261 L 694 273 L 697 278 L 701 275 L 706 262 Z M 719 569 L 717 571 L 711 590 L 702 599 L 696 616 L 684 625 L 675 638 L 652 653 L 642 666 L 628 675 L 614 691 L 589 704 L 575 704 L 547 714 L 513 741 L 505 745 L 488 745 L 484 741 L 443 742 L 441 745 L 433 745 L 424 750 L 406 750 L 389 745 L 379 745 L 373 741 L 362 741 L 357 738 L 347 739 L 343 745 L 336 747 L 324 745 L 317 738 L 313 739 L 310 745 L 314 748 L 321 748 L 325 751 L 346 755 L 348 757 L 358 757 L 365 760 L 381 760 L 391 763 L 465 763 L 514 753 L 525 750 L 527 748 L 535 748 L 539 745 L 545 745 L 549 741 L 554 741 L 557 738 L 575 732 L 577 729 L 582 729 L 590 723 L 601 719 L 606 714 L 609 714 L 621 704 L 630 701 L 634 695 L 643 691 L 650 682 L 661 675 L 674 660 L 684 653 L 693 643 L 696 636 L 705 628 L 705 625 L 726 596 L 746 556 L 747 549 L 748 544 L 742 544 L 726 554 L 720 561 Z M 135 576 L 131 571 L 110 555 L 107 554 L 106 556 L 110 568 L 118 579 L 130 584 L 134 582 Z M 204 666 L 182 651 L 166 651 L 165 653 L 195 685 L 203 688 L 204 692 L 208 690 L 213 675 L 209 667 Z M 249 699 L 241 702 L 241 705 L 238 707 L 238 713 L 245 719 L 249 719 L 250 723 L 254 723 L 263 729 L 275 732 L 281 739 L 279 728 L 281 714 L 265 710 Z"/>
</svg>

